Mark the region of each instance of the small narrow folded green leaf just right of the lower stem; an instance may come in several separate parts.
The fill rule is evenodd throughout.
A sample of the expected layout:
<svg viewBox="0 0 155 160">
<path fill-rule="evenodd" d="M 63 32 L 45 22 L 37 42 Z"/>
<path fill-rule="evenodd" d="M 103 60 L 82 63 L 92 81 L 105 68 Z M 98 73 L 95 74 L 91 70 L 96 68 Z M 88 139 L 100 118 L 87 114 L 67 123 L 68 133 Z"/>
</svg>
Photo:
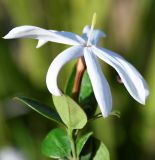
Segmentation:
<svg viewBox="0 0 155 160">
<path fill-rule="evenodd" d="M 76 144 L 76 151 L 77 151 L 77 155 L 79 156 L 84 145 L 86 144 L 87 140 L 89 139 L 89 137 L 93 134 L 93 132 L 89 132 L 87 134 L 85 134 L 84 136 L 80 137 L 80 139 L 77 141 Z"/>
</svg>

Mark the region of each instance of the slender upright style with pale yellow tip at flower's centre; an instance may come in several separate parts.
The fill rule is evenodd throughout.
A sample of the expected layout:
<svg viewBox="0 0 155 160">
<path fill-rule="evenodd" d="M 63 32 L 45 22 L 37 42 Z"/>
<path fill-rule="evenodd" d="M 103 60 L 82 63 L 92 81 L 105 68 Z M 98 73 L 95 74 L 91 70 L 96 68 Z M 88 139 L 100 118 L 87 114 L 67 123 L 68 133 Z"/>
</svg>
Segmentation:
<svg viewBox="0 0 155 160">
<path fill-rule="evenodd" d="M 93 30 L 94 30 L 95 24 L 96 24 L 96 13 L 93 14 L 92 24 L 91 24 L 91 28 L 90 28 L 90 32 L 89 32 L 89 36 L 88 36 L 88 41 L 86 44 L 87 47 L 89 47 L 91 45 L 91 40 L 93 37 Z"/>
</svg>

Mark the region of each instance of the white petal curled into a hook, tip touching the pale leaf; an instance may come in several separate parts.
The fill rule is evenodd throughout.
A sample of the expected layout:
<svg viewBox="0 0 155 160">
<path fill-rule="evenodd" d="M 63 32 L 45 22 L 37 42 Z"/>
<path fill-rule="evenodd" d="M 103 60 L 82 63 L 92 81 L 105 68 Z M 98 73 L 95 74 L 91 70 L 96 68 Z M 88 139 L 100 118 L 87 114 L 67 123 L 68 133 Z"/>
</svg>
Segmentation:
<svg viewBox="0 0 155 160">
<path fill-rule="evenodd" d="M 81 57 L 82 55 L 83 46 L 73 46 L 60 53 L 53 60 L 46 75 L 47 88 L 53 95 L 60 96 L 62 94 L 57 85 L 57 77 L 62 66 L 72 59 Z"/>
</svg>

